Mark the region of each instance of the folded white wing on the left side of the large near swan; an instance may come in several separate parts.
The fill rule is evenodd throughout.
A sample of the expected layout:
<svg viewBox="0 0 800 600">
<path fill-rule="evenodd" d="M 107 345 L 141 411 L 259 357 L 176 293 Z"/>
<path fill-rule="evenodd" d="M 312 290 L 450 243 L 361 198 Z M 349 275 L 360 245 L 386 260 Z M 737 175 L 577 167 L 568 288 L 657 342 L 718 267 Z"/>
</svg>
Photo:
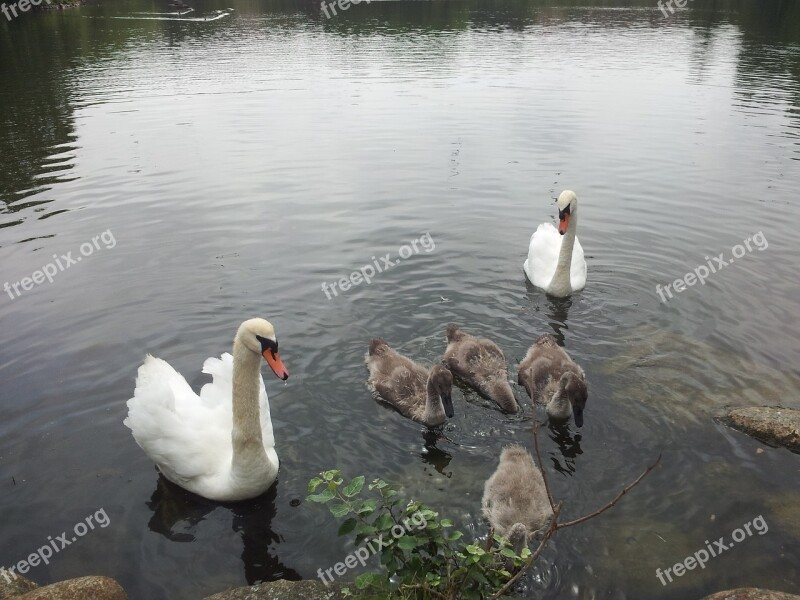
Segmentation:
<svg viewBox="0 0 800 600">
<path fill-rule="evenodd" d="M 148 457 L 176 483 L 218 470 L 219 448 L 230 447 L 230 401 L 210 406 L 165 361 L 148 356 L 124 424 Z M 226 425 L 227 424 L 227 425 Z M 215 451 L 216 450 L 216 451 Z"/>
</svg>

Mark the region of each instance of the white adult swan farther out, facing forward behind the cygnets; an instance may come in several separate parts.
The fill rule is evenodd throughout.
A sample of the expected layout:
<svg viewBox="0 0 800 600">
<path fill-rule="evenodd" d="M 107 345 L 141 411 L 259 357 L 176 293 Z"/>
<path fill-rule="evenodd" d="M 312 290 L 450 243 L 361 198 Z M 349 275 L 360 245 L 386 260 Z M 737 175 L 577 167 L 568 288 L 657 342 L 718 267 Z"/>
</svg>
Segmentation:
<svg viewBox="0 0 800 600">
<path fill-rule="evenodd" d="M 586 285 L 586 260 L 575 236 L 577 228 L 578 197 L 564 190 L 558 197 L 558 229 L 552 223 L 539 225 L 522 265 L 530 282 L 551 296 L 563 298 Z"/>
</svg>

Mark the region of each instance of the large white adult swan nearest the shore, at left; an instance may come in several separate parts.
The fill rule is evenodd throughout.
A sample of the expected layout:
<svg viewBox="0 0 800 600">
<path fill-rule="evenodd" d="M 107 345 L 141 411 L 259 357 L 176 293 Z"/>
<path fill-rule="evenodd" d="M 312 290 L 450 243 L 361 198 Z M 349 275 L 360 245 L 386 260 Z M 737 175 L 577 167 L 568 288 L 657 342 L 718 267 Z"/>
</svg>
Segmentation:
<svg viewBox="0 0 800 600">
<path fill-rule="evenodd" d="M 269 489 L 278 475 L 278 454 L 261 356 L 275 375 L 288 379 L 272 325 L 245 321 L 233 356 L 226 352 L 203 363 L 213 381 L 198 396 L 169 364 L 147 355 L 124 423 L 164 477 L 218 502 L 255 498 Z"/>
</svg>

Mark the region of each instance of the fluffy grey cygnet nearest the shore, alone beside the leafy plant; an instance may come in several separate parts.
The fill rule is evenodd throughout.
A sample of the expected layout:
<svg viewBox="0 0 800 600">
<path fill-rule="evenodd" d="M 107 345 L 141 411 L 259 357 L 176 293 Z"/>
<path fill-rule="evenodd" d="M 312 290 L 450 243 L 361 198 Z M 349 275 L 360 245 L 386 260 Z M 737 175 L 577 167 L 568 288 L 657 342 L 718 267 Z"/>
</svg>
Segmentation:
<svg viewBox="0 0 800 600">
<path fill-rule="evenodd" d="M 530 453 L 517 445 L 500 453 L 500 464 L 484 485 L 481 505 L 483 516 L 517 553 L 553 516 L 542 473 Z"/>
</svg>

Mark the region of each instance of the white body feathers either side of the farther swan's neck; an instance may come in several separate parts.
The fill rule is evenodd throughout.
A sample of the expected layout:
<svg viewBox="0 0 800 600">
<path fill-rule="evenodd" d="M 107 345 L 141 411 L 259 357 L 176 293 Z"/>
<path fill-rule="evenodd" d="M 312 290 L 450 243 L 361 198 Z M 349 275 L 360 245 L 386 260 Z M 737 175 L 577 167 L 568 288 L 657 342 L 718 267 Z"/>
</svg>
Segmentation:
<svg viewBox="0 0 800 600">
<path fill-rule="evenodd" d="M 553 281 L 564 237 L 552 223 L 542 223 L 531 236 L 528 258 L 522 267 L 525 275 L 536 287 L 547 290 Z M 583 248 L 577 237 L 572 248 L 569 281 L 573 291 L 586 286 L 586 259 L 583 257 Z"/>
</svg>

